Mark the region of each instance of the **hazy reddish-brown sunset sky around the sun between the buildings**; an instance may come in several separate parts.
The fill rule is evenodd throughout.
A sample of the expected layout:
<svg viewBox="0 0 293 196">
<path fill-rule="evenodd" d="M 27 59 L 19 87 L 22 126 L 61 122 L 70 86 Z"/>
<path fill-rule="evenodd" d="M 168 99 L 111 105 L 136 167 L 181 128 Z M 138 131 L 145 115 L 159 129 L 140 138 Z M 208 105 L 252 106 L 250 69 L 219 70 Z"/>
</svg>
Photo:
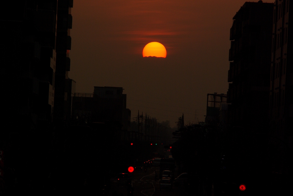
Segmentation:
<svg viewBox="0 0 293 196">
<path fill-rule="evenodd" d="M 266 0 L 273 2 L 273 0 Z M 227 93 L 229 34 L 243 0 L 74 0 L 69 77 L 76 92 L 123 87 L 139 112 L 204 121 L 207 93 Z M 165 59 L 144 59 L 149 42 Z M 196 119 L 196 120 L 195 120 Z"/>
</svg>

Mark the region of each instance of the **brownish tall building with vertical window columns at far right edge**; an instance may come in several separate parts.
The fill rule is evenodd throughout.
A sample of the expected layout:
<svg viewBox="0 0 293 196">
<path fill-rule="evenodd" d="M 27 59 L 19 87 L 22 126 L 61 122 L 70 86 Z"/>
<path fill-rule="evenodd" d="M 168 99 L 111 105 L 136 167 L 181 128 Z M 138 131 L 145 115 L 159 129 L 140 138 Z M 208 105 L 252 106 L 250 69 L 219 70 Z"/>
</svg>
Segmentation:
<svg viewBox="0 0 293 196">
<path fill-rule="evenodd" d="M 292 3 L 292 1 L 291 1 Z M 292 152 L 293 66 L 292 4 L 275 1 L 270 66 L 270 143 L 273 145 L 272 169 L 288 174 Z M 291 149 L 291 150 L 290 150 Z"/>
</svg>

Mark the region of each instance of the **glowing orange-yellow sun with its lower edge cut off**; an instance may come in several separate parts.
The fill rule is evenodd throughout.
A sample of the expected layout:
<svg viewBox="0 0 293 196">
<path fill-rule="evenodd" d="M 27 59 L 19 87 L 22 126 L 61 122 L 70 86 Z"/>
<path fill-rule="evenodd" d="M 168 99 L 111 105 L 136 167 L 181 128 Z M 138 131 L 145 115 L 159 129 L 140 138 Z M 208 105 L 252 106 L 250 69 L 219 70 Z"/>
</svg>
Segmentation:
<svg viewBox="0 0 293 196">
<path fill-rule="evenodd" d="M 150 42 L 142 50 L 143 57 L 164 57 L 166 58 L 167 51 L 163 44 L 159 42 Z"/>
</svg>

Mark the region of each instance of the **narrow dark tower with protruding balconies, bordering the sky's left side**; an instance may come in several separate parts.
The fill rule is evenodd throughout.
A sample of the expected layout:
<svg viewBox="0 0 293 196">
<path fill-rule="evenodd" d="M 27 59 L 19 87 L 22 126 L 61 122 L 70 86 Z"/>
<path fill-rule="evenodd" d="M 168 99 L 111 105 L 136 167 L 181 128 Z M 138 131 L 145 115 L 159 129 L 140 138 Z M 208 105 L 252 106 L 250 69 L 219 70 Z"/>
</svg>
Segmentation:
<svg viewBox="0 0 293 196">
<path fill-rule="evenodd" d="M 71 50 L 72 7 L 73 0 L 58 0 L 54 119 L 59 121 L 71 118 L 71 93 L 74 93 L 71 90 L 75 89 L 75 81 L 68 78 L 68 71 L 70 71 L 69 51 Z"/>
</svg>

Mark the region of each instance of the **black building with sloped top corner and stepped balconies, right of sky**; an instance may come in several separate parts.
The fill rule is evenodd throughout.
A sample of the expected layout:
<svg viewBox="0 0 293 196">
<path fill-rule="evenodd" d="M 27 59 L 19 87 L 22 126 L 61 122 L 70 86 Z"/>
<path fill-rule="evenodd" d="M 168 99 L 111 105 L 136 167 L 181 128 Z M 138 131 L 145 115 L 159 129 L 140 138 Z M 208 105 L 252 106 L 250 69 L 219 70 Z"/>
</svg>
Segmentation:
<svg viewBox="0 0 293 196">
<path fill-rule="evenodd" d="M 228 126 L 267 132 L 273 3 L 245 2 L 230 29 Z"/>
</svg>

